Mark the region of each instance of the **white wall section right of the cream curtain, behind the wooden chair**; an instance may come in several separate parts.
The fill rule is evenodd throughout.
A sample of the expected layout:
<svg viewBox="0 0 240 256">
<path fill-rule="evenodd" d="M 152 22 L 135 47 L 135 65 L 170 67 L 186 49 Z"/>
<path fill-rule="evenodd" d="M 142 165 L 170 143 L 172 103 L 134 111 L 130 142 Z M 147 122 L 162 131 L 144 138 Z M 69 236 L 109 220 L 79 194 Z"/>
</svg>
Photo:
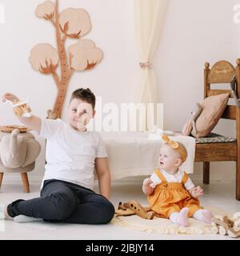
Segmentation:
<svg viewBox="0 0 240 256">
<path fill-rule="evenodd" d="M 240 58 L 240 24 L 234 23 L 233 8 L 238 3 L 234 0 L 170 1 L 155 59 L 158 97 L 164 102 L 166 129 L 181 130 L 195 102 L 202 102 L 205 62 L 225 59 L 236 65 L 236 58 Z M 234 128 L 234 121 L 220 120 L 214 131 L 233 136 Z M 195 166 L 195 174 L 202 174 L 202 163 Z M 210 178 L 234 179 L 234 166 L 234 162 L 211 163 Z"/>
</svg>

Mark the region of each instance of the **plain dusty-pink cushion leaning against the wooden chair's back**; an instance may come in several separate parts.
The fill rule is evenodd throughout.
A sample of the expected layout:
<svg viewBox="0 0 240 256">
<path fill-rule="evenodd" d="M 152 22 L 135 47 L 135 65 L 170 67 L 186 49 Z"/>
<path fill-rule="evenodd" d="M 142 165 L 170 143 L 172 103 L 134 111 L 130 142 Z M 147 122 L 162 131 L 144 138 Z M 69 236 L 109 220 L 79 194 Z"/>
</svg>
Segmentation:
<svg viewBox="0 0 240 256">
<path fill-rule="evenodd" d="M 222 117 L 230 94 L 218 94 L 205 98 L 202 102 L 202 112 L 196 120 L 195 138 L 203 138 L 210 134 Z"/>
</svg>

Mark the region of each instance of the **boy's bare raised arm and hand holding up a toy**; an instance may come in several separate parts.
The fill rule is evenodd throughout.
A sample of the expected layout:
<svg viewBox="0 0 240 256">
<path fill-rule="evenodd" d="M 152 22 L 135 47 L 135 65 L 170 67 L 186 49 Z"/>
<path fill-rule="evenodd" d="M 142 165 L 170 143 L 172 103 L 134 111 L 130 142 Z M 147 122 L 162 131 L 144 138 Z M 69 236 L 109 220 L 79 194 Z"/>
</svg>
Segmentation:
<svg viewBox="0 0 240 256">
<path fill-rule="evenodd" d="M 6 93 L 2 95 L 2 102 L 6 102 L 9 100 L 10 102 L 19 101 L 19 98 L 15 96 L 14 94 Z M 23 125 L 29 127 L 31 130 L 37 131 L 37 133 L 40 133 L 41 130 L 41 118 L 38 118 L 34 115 L 32 115 L 30 118 L 18 116 L 18 120 L 22 122 Z"/>
</svg>

